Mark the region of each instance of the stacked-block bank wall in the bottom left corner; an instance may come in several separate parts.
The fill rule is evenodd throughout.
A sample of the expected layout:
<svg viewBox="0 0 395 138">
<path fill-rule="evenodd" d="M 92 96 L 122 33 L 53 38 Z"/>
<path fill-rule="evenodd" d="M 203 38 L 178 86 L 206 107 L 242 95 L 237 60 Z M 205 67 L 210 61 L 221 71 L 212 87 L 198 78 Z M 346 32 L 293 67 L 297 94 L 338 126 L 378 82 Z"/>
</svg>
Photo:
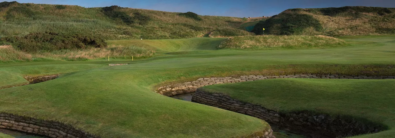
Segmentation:
<svg viewBox="0 0 395 138">
<path fill-rule="evenodd" d="M 7 113 L 0 113 L 0 129 L 21 131 L 51 138 L 99 138 L 64 123 Z"/>
</svg>

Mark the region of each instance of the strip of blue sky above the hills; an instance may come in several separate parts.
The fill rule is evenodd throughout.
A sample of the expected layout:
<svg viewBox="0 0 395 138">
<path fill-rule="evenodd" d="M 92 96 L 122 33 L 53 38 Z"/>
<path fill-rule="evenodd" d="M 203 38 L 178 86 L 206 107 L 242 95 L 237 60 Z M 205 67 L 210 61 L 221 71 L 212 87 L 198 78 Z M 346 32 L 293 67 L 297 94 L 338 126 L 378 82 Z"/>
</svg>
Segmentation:
<svg viewBox="0 0 395 138">
<path fill-rule="evenodd" d="M 14 1 L 14 0 L 12 0 Z M 16 0 L 20 3 L 64 4 L 83 7 L 119 5 L 199 15 L 258 17 L 276 15 L 291 8 L 342 6 L 395 7 L 395 0 Z"/>
</svg>

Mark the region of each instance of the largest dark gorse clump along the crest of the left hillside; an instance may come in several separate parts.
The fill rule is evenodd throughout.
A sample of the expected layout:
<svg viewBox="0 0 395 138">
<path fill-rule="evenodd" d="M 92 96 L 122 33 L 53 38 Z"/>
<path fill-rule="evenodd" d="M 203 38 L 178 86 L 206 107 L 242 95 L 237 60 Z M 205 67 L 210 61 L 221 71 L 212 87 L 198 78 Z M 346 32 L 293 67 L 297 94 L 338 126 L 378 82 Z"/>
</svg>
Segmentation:
<svg viewBox="0 0 395 138">
<path fill-rule="evenodd" d="M 126 14 L 125 12 L 120 11 L 120 9 L 122 9 L 122 7 L 119 7 L 117 5 L 113 5 L 110 7 L 103 7 L 102 11 L 105 15 L 113 18 L 113 19 L 121 19 L 122 22 L 126 23 L 126 24 L 134 24 L 134 23 L 138 23 L 138 24 L 145 24 L 148 21 L 150 21 L 151 19 L 148 16 L 144 16 L 139 12 L 134 13 L 133 17 Z"/>
</svg>

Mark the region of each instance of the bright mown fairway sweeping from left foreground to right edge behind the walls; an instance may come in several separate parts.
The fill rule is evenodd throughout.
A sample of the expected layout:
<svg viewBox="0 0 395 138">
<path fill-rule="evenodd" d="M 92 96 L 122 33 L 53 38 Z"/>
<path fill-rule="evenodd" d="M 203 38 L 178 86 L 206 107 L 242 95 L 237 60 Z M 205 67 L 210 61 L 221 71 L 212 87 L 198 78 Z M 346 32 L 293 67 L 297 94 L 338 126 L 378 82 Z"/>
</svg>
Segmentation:
<svg viewBox="0 0 395 138">
<path fill-rule="evenodd" d="M 219 41 L 219 38 L 207 39 Z M 205 76 L 394 74 L 395 53 L 388 52 L 393 51 L 393 40 L 393 36 L 359 36 L 347 38 L 348 47 L 328 49 L 222 49 L 161 54 L 137 61 L 3 63 L 0 71 L 16 77 L 8 80 L 0 75 L 0 86 L 22 82 L 24 75 L 65 74 L 47 82 L 0 90 L 0 112 L 58 120 L 103 137 L 247 136 L 267 129 L 267 123 L 251 116 L 162 96 L 154 92 L 155 87 L 164 82 Z M 170 47 L 164 52 L 179 51 L 183 47 L 198 49 L 189 45 L 192 41 L 187 44 L 181 48 Z M 129 65 L 108 67 L 110 63 Z"/>
</svg>

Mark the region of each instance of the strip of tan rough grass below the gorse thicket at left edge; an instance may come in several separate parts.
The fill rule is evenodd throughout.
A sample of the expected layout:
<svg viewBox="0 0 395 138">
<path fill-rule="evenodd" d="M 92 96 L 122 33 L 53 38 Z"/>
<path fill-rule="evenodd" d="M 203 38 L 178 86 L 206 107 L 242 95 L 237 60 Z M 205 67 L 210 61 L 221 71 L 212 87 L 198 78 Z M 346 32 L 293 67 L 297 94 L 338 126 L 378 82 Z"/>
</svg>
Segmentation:
<svg viewBox="0 0 395 138">
<path fill-rule="evenodd" d="M 4 48 L 5 47 L 5 48 Z M 52 52 L 25 53 L 10 45 L 0 46 L 0 62 L 26 62 L 40 60 L 83 61 L 110 58 L 141 59 L 154 56 L 155 51 L 134 45 L 115 46 L 87 49 L 63 49 Z"/>
</svg>

